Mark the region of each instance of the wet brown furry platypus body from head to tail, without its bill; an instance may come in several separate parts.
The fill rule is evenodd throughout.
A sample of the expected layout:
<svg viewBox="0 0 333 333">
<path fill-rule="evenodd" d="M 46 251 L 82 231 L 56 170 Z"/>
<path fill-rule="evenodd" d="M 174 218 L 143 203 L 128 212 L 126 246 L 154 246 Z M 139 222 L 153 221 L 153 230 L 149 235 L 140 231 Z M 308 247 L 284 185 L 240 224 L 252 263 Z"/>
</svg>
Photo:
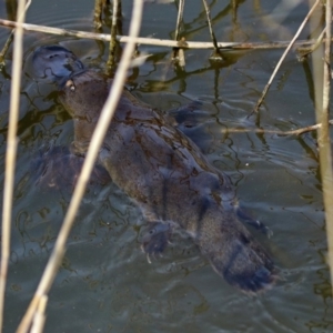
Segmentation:
<svg viewBox="0 0 333 333">
<path fill-rule="evenodd" d="M 52 62 L 57 57 L 49 59 Z M 54 72 L 57 65 L 49 68 Z M 112 79 L 81 67 L 67 75 L 59 72 L 59 100 L 74 120 L 71 149 L 84 155 L 112 89 Z M 238 219 L 235 191 L 229 176 L 214 168 L 160 110 L 144 104 L 125 89 L 98 163 L 152 223 L 145 251 L 163 251 L 170 228 L 178 225 L 230 284 L 258 292 L 276 280 L 270 255 Z"/>
</svg>

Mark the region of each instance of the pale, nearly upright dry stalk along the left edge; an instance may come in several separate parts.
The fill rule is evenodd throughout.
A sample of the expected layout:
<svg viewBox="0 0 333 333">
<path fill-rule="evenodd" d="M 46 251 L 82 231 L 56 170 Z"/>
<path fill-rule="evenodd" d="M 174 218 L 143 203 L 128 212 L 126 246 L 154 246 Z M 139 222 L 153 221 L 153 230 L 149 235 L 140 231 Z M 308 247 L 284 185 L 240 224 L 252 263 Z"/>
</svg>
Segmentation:
<svg viewBox="0 0 333 333">
<path fill-rule="evenodd" d="M 18 6 L 18 22 L 23 22 L 26 18 L 24 0 L 19 1 Z M 1 241 L 1 272 L 0 272 L 0 331 L 3 325 L 3 306 L 4 306 L 4 290 L 8 274 L 8 262 L 10 255 L 10 228 L 11 228 L 11 210 L 13 199 L 13 184 L 17 157 L 17 130 L 20 108 L 20 85 L 21 85 L 21 68 L 22 68 L 22 44 L 23 29 L 17 28 L 14 31 L 13 47 L 13 64 L 12 64 L 12 82 L 10 91 L 10 113 L 9 129 L 7 137 L 6 152 L 6 176 L 3 189 L 3 208 L 2 208 L 2 241 Z"/>
</svg>

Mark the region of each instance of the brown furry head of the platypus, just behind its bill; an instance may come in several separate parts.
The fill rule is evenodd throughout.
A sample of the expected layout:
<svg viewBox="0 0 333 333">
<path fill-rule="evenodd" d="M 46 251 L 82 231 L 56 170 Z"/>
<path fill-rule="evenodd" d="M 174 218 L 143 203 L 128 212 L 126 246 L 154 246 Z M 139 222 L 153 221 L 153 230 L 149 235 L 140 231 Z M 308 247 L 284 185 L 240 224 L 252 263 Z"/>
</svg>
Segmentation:
<svg viewBox="0 0 333 333">
<path fill-rule="evenodd" d="M 71 75 L 60 91 L 60 102 L 74 118 L 95 122 L 109 94 L 110 81 L 92 70 Z"/>
</svg>

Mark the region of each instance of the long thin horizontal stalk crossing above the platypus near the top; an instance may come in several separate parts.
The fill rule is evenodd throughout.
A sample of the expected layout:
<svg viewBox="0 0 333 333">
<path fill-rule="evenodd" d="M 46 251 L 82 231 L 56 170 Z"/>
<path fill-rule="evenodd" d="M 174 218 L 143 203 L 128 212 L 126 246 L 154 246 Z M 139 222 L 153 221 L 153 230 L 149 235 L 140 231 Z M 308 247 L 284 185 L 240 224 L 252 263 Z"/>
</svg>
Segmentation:
<svg viewBox="0 0 333 333">
<path fill-rule="evenodd" d="M 20 23 L 2 20 L 0 19 L 0 26 L 16 28 L 20 26 Z M 77 37 L 77 38 L 87 38 L 93 40 L 102 40 L 110 41 L 110 34 L 105 33 L 93 33 L 85 31 L 77 31 L 77 30 L 68 30 L 60 28 L 51 28 L 46 26 L 22 23 L 21 27 L 27 31 L 36 31 L 36 32 L 44 32 L 64 37 Z M 121 43 L 125 43 L 130 40 L 128 36 L 117 36 L 117 40 Z M 179 48 L 178 41 L 167 40 L 167 39 L 154 39 L 154 38 L 135 38 L 135 43 L 145 44 L 145 46 L 158 46 L 158 47 L 168 47 L 168 48 Z M 294 44 L 297 47 L 306 47 L 312 46 L 316 42 L 316 40 L 301 40 L 295 42 Z M 224 50 L 268 50 L 268 49 L 284 49 L 290 44 L 290 41 L 274 41 L 271 43 L 262 43 L 262 42 L 218 42 L 219 49 Z M 214 49 L 214 44 L 212 42 L 191 42 L 188 41 L 185 46 L 181 46 L 183 49 Z"/>
</svg>

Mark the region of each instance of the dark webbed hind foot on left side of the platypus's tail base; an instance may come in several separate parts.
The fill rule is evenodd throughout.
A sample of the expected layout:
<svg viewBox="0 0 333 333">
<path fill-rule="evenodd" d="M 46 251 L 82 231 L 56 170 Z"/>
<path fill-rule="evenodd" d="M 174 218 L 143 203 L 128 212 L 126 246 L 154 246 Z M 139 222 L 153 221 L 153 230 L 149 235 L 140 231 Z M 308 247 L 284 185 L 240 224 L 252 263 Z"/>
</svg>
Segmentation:
<svg viewBox="0 0 333 333">
<path fill-rule="evenodd" d="M 169 223 L 150 222 L 141 242 L 142 250 L 150 255 L 161 255 L 169 243 L 171 226 Z"/>
</svg>

